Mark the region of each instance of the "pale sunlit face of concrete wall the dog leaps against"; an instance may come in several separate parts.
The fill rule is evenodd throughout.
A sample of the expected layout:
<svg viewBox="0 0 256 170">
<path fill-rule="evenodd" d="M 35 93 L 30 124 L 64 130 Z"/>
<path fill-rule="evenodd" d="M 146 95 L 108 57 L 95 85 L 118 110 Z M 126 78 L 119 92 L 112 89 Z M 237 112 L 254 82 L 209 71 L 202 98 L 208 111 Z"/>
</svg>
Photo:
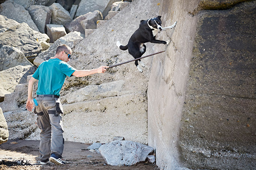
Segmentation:
<svg viewBox="0 0 256 170">
<path fill-rule="evenodd" d="M 155 52 L 166 50 L 153 59 L 147 90 L 148 144 L 156 149 L 156 164 L 165 170 L 178 169 L 179 129 L 186 90 L 189 62 L 195 36 L 196 17 L 188 11 L 198 1 L 161 1 L 162 26 L 177 21 L 174 29 L 161 32 L 159 40 L 171 39 L 170 45 L 155 45 Z"/>
</svg>

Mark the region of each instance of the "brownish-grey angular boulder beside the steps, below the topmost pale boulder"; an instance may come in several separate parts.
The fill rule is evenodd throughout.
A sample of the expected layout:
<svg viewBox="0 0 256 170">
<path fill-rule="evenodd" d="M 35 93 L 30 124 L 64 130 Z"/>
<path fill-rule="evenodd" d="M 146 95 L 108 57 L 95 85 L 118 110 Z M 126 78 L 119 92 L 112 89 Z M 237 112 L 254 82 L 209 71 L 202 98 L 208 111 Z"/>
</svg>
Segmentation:
<svg viewBox="0 0 256 170">
<path fill-rule="evenodd" d="M 102 20 L 102 13 L 98 10 L 94 12 L 88 12 L 85 15 L 81 15 L 75 18 L 72 22 L 65 25 L 68 31 L 79 31 L 84 34 L 85 29 L 96 29 L 97 21 Z"/>
</svg>

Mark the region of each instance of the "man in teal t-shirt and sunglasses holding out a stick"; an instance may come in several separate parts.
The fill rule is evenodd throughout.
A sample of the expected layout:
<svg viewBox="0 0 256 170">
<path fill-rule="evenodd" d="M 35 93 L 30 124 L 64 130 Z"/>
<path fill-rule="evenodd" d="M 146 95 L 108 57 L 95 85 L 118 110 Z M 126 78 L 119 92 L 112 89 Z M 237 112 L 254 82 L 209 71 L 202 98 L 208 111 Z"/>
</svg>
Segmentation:
<svg viewBox="0 0 256 170">
<path fill-rule="evenodd" d="M 64 148 L 62 105 L 60 103 L 60 90 L 67 76 L 84 77 L 95 73 L 106 72 L 107 66 L 98 69 L 76 70 L 67 62 L 71 58 L 71 48 L 65 44 L 59 45 L 56 55 L 39 65 L 36 72 L 28 82 L 28 100 L 26 108 L 33 109 L 32 92 L 34 83 L 38 82 L 36 107 L 37 126 L 40 132 L 40 164 L 48 161 L 55 164 L 65 164 L 61 160 Z"/>
</svg>

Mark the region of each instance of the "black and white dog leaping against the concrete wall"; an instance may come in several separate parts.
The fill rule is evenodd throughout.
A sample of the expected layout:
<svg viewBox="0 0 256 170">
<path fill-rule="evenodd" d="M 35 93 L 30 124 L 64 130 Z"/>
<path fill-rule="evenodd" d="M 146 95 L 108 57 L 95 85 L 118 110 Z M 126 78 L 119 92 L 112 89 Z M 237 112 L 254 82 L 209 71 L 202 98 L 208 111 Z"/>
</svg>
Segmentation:
<svg viewBox="0 0 256 170">
<path fill-rule="evenodd" d="M 132 34 L 129 42 L 127 45 L 121 45 L 119 41 L 116 42 L 116 45 L 121 50 L 127 50 L 129 53 L 134 57 L 134 59 L 140 58 L 146 52 L 146 42 L 158 43 L 158 44 L 170 44 L 170 40 L 168 41 L 161 41 L 156 40 L 156 34 L 160 31 L 165 31 L 167 29 L 172 29 L 176 26 L 177 21 L 168 27 L 162 28 L 161 26 L 161 16 L 156 18 L 150 18 L 147 21 L 141 20 L 140 27 Z M 140 66 L 138 65 L 140 62 L 142 67 L 145 67 L 144 63 L 141 60 L 136 60 L 135 65 L 140 72 L 143 72 Z"/>
</svg>

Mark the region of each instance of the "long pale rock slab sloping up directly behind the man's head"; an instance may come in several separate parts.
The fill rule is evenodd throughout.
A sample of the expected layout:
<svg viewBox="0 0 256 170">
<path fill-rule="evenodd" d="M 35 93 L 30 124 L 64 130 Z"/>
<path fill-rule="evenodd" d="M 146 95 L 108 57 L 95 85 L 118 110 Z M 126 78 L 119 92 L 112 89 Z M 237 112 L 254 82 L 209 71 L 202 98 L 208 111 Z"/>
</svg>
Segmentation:
<svg viewBox="0 0 256 170">
<path fill-rule="evenodd" d="M 80 32 L 70 32 L 64 37 L 59 38 L 51 45 L 46 51 L 40 53 L 36 59 L 34 60 L 34 64 L 38 67 L 43 61 L 50 59 L 50 57 L 54 57 L 56 54 L 56 48 L 58 45 L 67 44 L 71 49 L 74 48 L 75 40 L 82 40 L 83 37 L 80 36 Z"/>
</svg>

